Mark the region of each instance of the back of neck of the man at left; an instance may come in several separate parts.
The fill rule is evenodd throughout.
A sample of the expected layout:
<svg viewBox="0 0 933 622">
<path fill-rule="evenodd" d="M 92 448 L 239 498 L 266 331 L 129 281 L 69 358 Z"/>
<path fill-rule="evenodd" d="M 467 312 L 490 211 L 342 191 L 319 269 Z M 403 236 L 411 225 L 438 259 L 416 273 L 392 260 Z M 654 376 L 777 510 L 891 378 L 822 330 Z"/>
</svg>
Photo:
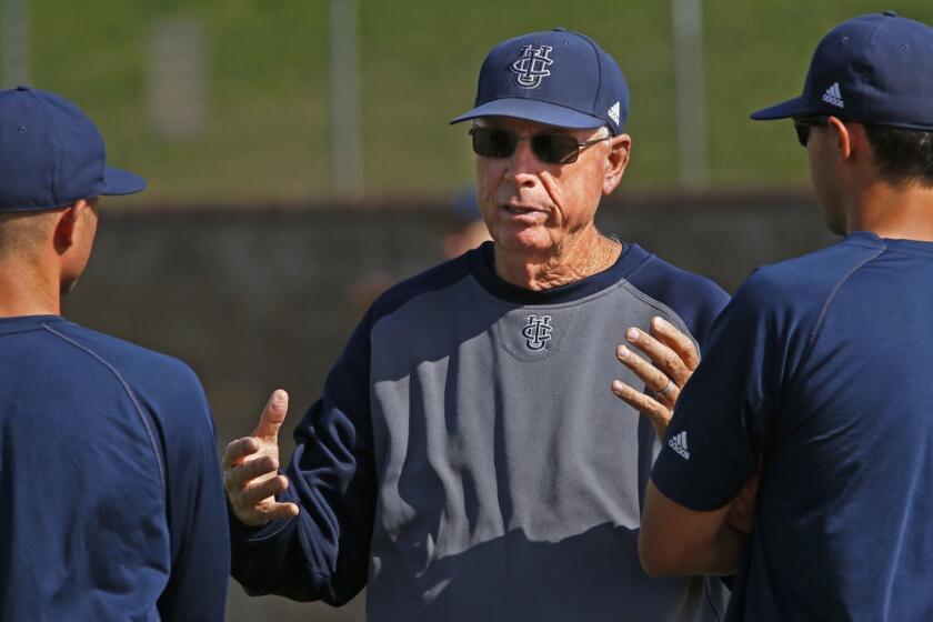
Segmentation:
<svg viewBox="0 0 933 622">
<path fill-rule="evenodd" d="M 27 262 L 0 261 L 0 318 L 60 315 L 61 285 L 51 277 Z"/>
</svg>

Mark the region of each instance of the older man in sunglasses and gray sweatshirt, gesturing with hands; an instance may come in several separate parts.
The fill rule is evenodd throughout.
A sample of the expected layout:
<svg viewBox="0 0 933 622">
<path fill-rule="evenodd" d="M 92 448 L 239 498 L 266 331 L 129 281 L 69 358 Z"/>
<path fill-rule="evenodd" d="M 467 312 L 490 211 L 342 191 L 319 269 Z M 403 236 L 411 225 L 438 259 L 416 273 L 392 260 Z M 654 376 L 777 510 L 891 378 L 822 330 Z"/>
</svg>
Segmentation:
<svg viewBox="0 0 933 622">
<path fill-rule="evenodd" d="M 654 434 L 609 390 L 614 344 L 655 315 L 702 340 L 726 295 L 596 230 L 628 109 L 582 34 L 490 52 L 453 122 L 473 121 L 493 242 L 377 300 L 285 474 L 283 392 L 228 448 L 233 575 L 252 593 L 342 603 L 368 584 L 372 620 L 715 618 L 719 582 L 638 562 Z"/>
</svg>

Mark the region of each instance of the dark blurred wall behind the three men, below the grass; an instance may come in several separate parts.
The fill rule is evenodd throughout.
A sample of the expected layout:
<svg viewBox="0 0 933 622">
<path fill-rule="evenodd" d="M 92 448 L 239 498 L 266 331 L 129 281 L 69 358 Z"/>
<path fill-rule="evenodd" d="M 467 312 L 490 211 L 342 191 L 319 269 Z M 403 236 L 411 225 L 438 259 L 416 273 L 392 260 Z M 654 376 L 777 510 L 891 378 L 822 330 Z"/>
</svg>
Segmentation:
<svg viewBox="0 0 933 622">
<path fill-rule="evenodd" d="M 219 448 L 252 430 L 277 387 L 291 394 L 294 423 L 362 314 L 351 300 L 360 285 L 440 261 L 450 224 L 429 209 L 102 211 L 92 263 L 64 313 L 188 361 L 213 408 Z M 755 265 L 835 240 L 799 195 L 623 198 L 604 204 L 599 222 L 730 291 Z M 363 619 L 362 599 L 330 610 L 248 599 L 235 584 L 228 610 L 233 622 Z"/>
</svg>

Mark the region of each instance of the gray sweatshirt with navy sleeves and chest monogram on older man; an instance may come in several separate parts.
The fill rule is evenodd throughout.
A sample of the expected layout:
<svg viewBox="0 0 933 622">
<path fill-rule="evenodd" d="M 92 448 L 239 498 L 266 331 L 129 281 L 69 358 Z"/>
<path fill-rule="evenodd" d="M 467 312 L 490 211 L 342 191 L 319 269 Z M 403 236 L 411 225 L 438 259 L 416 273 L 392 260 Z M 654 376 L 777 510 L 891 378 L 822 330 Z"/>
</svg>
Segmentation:
<svg viewBox="0 0 933 622">
<path fill-rule="evenodd" d="M 638 559 L 653 428 L 610 391 L 614 357 L 660 315 L 702 343 L 728 301 L 629 244 L 608 270 L 532 292 L 492 244 L 383 294 L 295 430 L 285 498 L 231 518 L 251 593 L 340 604 L 365 584 L 389 620 L 718 620 L 719 580 L 652 579 Z"/>
</svg>

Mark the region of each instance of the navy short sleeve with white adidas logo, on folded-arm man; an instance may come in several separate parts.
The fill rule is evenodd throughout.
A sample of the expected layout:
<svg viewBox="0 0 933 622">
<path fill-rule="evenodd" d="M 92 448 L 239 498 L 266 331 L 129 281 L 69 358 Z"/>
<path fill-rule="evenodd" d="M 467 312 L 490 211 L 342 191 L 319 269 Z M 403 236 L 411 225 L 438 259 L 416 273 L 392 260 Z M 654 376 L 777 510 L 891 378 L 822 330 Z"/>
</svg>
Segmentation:
<svg viewBox="0 0 933 622">
<path fill-rule="evenodd" d="M 735 293 L 713 323 L 651 473 L 668 498 L 698 511 L 735 498 L 764 451 L 799 357 L 787 344 L 799 342 L 793 335 L 802 328 L 765 271 Z"/>
</svg>

